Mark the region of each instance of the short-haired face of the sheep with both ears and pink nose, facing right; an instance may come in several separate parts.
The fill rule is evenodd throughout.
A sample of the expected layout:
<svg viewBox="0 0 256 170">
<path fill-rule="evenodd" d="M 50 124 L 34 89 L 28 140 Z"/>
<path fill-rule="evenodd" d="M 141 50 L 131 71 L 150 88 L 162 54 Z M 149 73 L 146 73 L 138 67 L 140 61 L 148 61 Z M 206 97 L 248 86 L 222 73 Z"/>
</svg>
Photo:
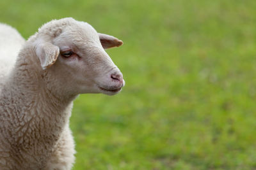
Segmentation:
<svg viewBox="0 0 256 170">
<path fill-rule="evenodd" d="M 54 81 L 54 87 L 61 87 L 61 93 L 75 95 L 120 92 L 125 81 L 104 48 L 120 46 L 122 41 L 98 33 L 85 22 L 70 21 L 70 18 L 68 21 L 72 24 L 64 24 L 58 35 L 55 33 L 51 38 L 44 38 L 48 41 L 41 39 L 36 45 L 36 55 L 44 68 L 46 82 L 52 85 Z"/>
</svg>

